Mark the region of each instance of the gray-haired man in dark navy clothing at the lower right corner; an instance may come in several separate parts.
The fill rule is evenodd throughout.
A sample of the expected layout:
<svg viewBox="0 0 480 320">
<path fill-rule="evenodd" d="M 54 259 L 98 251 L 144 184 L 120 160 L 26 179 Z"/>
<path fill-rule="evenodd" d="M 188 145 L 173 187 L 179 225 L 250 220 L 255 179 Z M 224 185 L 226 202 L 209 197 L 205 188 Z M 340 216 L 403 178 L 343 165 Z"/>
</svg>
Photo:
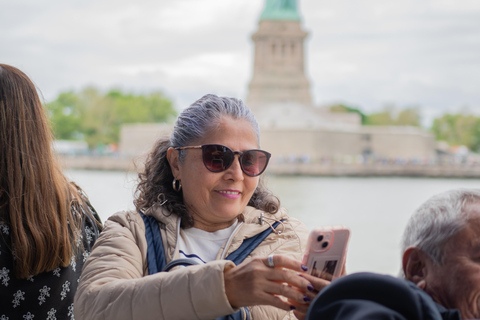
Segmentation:
<svg viewBox="0 0 480 320">
<path fill-rule="evenodd" d="M 480 319 L 480 189 L 423 203 L 402 249 L 405 279 L 360 273 L 333 281 L 307 319 Z"/>
</svg>

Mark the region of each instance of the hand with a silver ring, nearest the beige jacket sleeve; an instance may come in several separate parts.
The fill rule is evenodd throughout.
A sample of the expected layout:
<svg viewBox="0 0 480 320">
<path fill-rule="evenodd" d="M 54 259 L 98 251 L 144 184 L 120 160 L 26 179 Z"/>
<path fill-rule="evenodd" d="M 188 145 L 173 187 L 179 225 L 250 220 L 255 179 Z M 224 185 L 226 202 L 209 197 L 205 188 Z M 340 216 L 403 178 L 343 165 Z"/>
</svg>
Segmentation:
<svg viewBox="0 0 480 320">
<path fill-rule="evenodd" d="M 299 261 L 282 255 L 253 258 L 225 270 L 225 292 L 234 308 L 271 305 L 286 311 L 304 305 L 315 297 L 315 286 L 299 276 L 306 267 Z"/>
</svg>

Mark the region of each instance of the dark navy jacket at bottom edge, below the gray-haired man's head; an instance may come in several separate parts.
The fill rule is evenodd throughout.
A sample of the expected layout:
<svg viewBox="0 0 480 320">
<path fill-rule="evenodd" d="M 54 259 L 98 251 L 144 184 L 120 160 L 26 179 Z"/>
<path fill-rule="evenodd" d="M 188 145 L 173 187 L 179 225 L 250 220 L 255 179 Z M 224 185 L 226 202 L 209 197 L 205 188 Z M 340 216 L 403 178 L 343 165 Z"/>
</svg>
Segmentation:
<svg viewBox="0 0 480 320">
<path fill-rule="evenodd" d="M 333 281 L 310 305 L 307 320 L 460 320 L 413 283 L 356 273 Z"/>
</svg>

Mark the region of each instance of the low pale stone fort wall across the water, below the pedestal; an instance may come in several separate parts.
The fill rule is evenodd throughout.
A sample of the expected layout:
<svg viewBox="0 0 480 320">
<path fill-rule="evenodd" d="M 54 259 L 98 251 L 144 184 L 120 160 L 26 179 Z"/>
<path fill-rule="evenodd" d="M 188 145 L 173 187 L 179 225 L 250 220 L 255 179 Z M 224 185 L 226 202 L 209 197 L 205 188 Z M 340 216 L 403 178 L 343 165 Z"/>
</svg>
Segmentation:
<svg viewBox="0 0 480 320">
<path fill-rule="evenodd" d="M 119 152 L 124 156 L 146 154 L 173 125 L 125 125 Z M 328 157 L 368 155 L 389 159 L 424 159 L 435 156 L 432 134 L 413 127 L 359 127 L 352 130 L 261 129 L 261 147 L 274 161 L 321 161 Z"/>
</svg>

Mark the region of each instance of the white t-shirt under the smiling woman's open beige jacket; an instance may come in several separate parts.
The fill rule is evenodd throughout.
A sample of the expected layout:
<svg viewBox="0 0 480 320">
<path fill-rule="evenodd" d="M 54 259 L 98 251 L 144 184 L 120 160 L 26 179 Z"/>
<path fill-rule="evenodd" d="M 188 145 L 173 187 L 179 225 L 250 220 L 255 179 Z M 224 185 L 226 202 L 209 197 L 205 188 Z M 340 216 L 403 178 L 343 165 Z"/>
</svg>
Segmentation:
<svg viewBox="0 0 480 320">
<path fill-rule="evenodd" d="M 180 258 L 193 259 L 204 264 L 215 260 L 222 245 L 232 235 L 238 220 L 230 227 L 215 232 L 207 232 L 197 228 L 181 229 L 178 248 Z"/>
</svg>

